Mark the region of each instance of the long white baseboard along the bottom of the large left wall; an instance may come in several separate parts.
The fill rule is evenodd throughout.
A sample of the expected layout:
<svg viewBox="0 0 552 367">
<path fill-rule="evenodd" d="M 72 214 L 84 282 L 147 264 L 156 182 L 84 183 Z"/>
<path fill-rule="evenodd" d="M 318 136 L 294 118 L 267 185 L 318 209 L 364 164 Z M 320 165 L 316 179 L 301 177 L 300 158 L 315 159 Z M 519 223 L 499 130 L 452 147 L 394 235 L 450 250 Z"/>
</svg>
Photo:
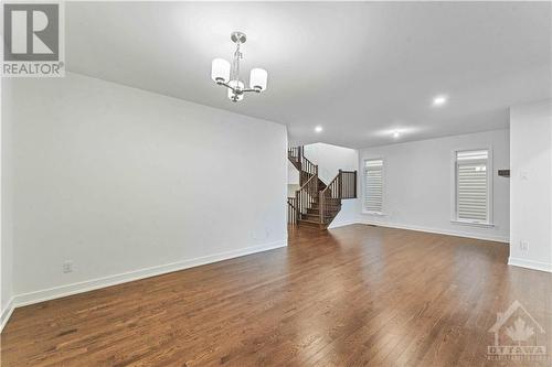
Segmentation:
<svg viewBox="0 0 552 367">
<path fill-rule="evenodd" d="M 193 267 L 199 267 L 202 265 L 208 265 L 212 262 L 217 262 L 222 260 L 229 260 L 233 258 L 237 258 L 245 255 L 252 255 L 256 252 L 273 250 L 280 247 L 287 246 L 287 239 L 270 244 L 265 244 L 261 246 L 246 247 L 238 250 L 219 252 L 214 255 L 209 255 L 195 259 L 182 260 L 171 263 L 166 263 L 162 266 L 156 266 L 150 268 L 138 269 L 134 271 L 128 271 L 119 274 L 102 277 L 96 279 L 91 279 L 82 282 L 76 282 L 72 284 L 59 285 L 50 289 L 44 289 L 35 292 L 17 294 L 10 301 L 11 309 L 20 307 L 33 303 L 39 303 L 43 301 L 49 301 L 53 299 L 59 299 L 62 296 L 67 296 L 77 293 L 84 293 L 88 291 L 93 291 L 100 288 L 117 285 L 126 282 L 131 282 L 135 280 L 140 280 L 145 278 L 156 277 L 160 274 L 164 274 L 168 272 L 184 270 Z M 10 311 L 7 312 L 7 316 L 4 320 L 4 315 L 2 314 L 2 326 L 6 322 L 8 322 L 9 316 L 11 315 Z"/>
</svg>

